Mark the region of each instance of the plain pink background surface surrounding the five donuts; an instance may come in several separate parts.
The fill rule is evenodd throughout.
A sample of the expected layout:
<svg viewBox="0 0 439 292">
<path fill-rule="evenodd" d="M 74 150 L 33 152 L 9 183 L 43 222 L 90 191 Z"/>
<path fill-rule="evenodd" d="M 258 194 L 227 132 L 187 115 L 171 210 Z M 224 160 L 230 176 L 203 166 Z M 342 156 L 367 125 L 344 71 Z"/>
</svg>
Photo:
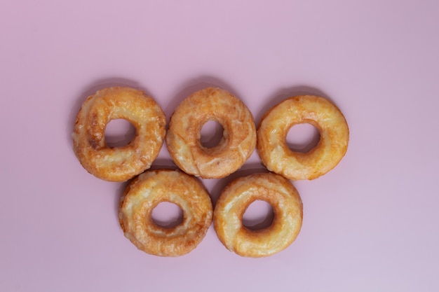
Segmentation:
<svg viewBox="0 0 439 292">
<path fill-rule="evenodd" d="M 0 291 L 438 291 L 438 29 L 435 0 L 2 1 Z M 349 150 L 294 183 L 304 224 L 285 251 L 241 258 L 211 227 L 187 256 L 149 256 L 119 227 L 126 184 L 72 151 L 81 103 L 109 85 L 145 90 L 168 118 L 217 85 L 257 123 L 323 95 Z M 154 167 L 172 165 L 163 147 Z M 256 153 L 203 183 L 215 201 L 255 171 Z"/>
</svg>

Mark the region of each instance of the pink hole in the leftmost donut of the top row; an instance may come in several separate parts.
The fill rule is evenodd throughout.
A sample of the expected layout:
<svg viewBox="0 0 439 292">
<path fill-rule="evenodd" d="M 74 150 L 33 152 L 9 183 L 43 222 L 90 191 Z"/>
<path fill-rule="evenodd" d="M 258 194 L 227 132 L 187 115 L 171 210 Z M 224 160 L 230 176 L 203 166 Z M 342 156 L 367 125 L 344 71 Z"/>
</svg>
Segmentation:
<svg viewBox="0 0 439 292">
<path fill-rule="evenodd" d="M 109 148 L 123 147 L 135 137 L 135 127 L 128 120 L 118 118 L 110 120 L 105 127 L 105 144 Z"/>
</svg>

